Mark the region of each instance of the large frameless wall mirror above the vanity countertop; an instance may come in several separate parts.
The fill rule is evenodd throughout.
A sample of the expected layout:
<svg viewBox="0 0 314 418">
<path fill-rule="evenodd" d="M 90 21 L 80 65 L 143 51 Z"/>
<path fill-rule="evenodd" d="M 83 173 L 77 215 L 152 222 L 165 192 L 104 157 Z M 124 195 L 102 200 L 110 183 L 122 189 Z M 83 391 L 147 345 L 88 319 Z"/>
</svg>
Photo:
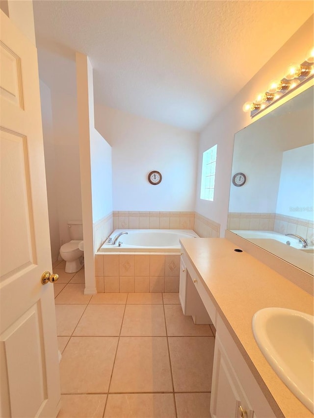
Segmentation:
<svg viewBox="0 0 314 418">
<path fill-rule="evenodd" d="M 310 87 L 235 134 L 232 176 L 246 181 L 231 182 L 227 225 L 312 275 L 313 102 Z"/>
</svg>

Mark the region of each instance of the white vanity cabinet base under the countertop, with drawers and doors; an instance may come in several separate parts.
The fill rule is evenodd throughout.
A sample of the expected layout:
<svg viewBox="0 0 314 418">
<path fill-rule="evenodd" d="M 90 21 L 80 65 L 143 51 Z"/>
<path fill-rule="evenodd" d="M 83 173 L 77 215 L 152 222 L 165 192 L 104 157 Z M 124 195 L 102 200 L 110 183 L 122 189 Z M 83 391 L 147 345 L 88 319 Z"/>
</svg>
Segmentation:
<svg viewBox="0 0 314 418">
<path fill-rule="evenodd" d="M 219 306 L 209 296 L 204 282 L 187 254 L 181 255 L 179 297 L 184 315 L 194 323 L 213 323 L 216 328 L 215 353 L 211 382 L 210 414 L 212 418 L 276 418 L 262 389 L 235 344 L 221 316 Z M 234 340 L 235 337 L 235 340 Z M 243 347 L 241 346 L 243 350 Z M 243 354 L 242 354 L 243 353 Z"/>
</svg>

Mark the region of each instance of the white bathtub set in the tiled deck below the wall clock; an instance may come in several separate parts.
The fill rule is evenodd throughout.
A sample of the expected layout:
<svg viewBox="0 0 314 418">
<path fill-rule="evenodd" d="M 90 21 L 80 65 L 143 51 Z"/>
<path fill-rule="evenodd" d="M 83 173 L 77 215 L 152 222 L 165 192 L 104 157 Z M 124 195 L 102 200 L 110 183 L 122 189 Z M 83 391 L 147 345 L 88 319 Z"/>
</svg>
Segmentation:
<svg viewBox="0 0 314 418">
<path fill-rule="evenodd" d="M 198 235 L 187 229 L 116 229 L 110 237 L 112 241 L 120 232 L 121 235 L 113 246 L 107 241 L 100 252 L 180 252 L 181 238 L 198 238 Z M 122 242 L 119 247 L 119 241 Z"/>
</svg>

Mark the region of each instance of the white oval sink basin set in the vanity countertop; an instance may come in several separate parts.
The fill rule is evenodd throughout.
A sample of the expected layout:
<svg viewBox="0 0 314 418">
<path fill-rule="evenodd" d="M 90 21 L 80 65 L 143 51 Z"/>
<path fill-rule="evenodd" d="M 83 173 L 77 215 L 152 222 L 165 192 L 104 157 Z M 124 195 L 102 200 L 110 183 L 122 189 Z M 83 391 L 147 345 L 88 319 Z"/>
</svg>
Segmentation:
<svg viewBox="0 0 314 418">
<path fill-rule="evenodd" d="M 252 321 L 254 338 L 290 391 L 314 413 L 314 317 L 285 308 L 265 308 Z"/>
</svg>

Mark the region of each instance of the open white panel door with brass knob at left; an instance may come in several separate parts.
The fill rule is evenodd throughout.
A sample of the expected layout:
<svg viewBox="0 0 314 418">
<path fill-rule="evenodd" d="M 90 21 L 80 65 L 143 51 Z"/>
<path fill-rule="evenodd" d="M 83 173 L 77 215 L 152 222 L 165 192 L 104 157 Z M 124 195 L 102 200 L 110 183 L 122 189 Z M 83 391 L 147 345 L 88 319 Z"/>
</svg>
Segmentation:
<svg viewBox="0 0 314 418">
<path fill-rule="evenodd" d="M 0 10 L 0 416 L 60 403 L 37 51 Z M 50 270 L 51 271 L 51 270 Z"/>
</svg>

